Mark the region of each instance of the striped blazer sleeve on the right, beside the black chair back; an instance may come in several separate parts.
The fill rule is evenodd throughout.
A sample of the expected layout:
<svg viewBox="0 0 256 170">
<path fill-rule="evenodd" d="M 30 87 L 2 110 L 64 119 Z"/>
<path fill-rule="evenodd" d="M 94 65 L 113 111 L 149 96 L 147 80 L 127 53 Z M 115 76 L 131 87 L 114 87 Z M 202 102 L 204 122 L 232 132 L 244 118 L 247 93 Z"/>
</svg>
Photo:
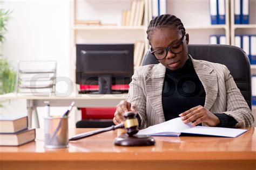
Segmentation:
<svg viewBox="0 0 256 170">
<path fill-rule="evenodd" d="M 251 109 L 235 84 L 230 71 L 225 66 L 225 86 L 226 86 L 226 111 L 224 114 L 232 116 L 238 123 L 235 127 L 249 127 L 254 122 Z"/>
</svg>

